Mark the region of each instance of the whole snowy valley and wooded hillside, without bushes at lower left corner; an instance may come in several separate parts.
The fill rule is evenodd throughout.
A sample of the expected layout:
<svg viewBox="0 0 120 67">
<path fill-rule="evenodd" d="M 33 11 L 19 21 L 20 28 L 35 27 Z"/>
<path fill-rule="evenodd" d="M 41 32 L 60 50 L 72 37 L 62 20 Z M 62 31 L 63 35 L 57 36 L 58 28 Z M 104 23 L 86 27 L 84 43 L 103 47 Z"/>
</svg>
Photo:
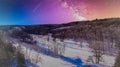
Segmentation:
<svg viewBox="0 0 120 67">
<path fill-rule="evenodd" d="M 119 64 L 119 18 L 2 26 L 1 30 L 25 60 L 35 65 L 27 63 L 28 67 L 113 67 Z"/>
</svg>

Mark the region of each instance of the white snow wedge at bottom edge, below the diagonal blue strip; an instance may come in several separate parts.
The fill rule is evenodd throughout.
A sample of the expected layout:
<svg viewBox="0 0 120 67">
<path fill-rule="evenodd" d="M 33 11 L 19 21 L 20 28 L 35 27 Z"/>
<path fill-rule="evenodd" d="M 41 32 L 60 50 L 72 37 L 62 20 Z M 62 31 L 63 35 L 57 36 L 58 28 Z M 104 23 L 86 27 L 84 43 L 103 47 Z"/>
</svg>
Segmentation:
<svg viewBox="0 0 120 67">
<path fill-rule="evenodd" d="M 63 61 L 60 58 L 54 58 L 42 54 L 41 57 L 42 57 L 42 61 L 41 63 L 39 63 L 41 67 L 73 67 L 74 66 L 73 64 Z"/>
</svg>

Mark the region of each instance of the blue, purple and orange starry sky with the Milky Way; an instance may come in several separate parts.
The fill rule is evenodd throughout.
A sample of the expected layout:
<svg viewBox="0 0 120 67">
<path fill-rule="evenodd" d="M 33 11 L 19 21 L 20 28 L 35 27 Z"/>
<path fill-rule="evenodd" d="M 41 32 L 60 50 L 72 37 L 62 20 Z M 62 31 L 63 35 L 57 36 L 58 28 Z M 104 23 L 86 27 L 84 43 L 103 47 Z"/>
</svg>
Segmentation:
<svg viewBox="0 0 120 67">
<path fill-rule="evenodd" d="M 120 17 L 120 0 L 0 0 L 0 25 L 60 24 Z"/>
</svg>

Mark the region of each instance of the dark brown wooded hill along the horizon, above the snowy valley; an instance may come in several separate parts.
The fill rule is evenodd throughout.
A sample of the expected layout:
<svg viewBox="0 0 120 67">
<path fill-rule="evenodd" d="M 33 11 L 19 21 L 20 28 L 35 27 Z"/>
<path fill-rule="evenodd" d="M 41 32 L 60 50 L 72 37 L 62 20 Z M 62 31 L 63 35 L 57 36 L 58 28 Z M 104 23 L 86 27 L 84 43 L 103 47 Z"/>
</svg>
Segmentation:
<svg viewBox="0 0 120 67">
<path fill-rule="evenodd" d="M 71 39 L 97 39 L 98 36 L 105 38 L 113 36 L 120 29 L 120 18 L 96 19 L 92 21 L 76 21 L 66 24 L 43 24 L 43 25 L 11 25 L 2 26 L 1 29 L 14 30 L 21 29 L 21 33 L 48 35 L 54 38 Z M 16 33 L 17 31 L 16 30 Z M 117 35 L 114 35 L 117 37 Z"/>
</svg>

